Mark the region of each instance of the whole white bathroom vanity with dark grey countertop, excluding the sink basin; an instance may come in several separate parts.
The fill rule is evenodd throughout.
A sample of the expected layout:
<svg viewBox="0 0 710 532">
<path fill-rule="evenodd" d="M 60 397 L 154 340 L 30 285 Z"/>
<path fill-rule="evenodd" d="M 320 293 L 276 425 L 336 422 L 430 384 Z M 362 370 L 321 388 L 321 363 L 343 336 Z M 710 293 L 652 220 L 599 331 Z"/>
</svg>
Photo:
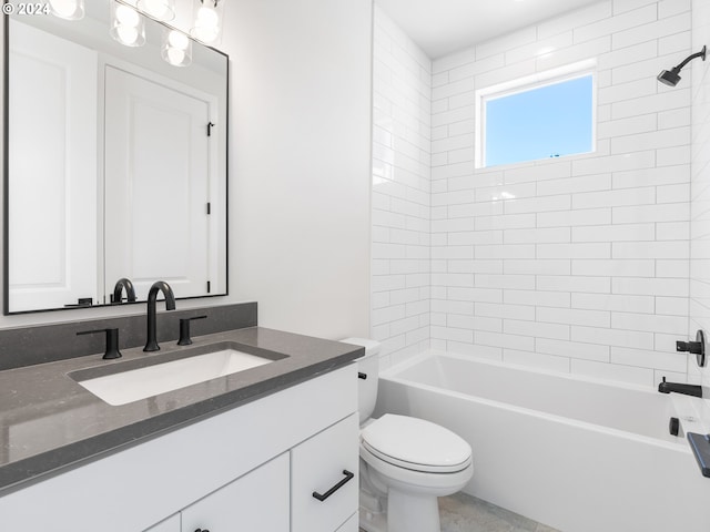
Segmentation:
<svg viewBox="0 0 710 532">
<path fill-rule="evenodd" d="M 356 532 L 362 349 L 260 327 L 190 349 L 224 341 L 282 358 L 121 406 L 74 378 L 183 348 L 0 371 L 3 530 Z"/>
</svg>

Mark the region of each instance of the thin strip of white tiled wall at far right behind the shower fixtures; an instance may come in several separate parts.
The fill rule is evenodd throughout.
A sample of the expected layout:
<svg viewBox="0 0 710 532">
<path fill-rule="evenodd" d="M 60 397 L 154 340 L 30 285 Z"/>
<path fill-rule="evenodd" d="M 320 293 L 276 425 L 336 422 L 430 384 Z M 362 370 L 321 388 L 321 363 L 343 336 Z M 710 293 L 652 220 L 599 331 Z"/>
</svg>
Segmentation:
<svg viewBox="0 0 710 532">
<path fill-rule="evenodd" d="M 710 2 L 692 0 L 692 51 L 710 45 Z M 694 60 L 686 74 L 692 74 L 692 157 L 690 217 L 690 324 L 696 330 L 710 331 L 710 61 Z M 686 70 L 683 70 L 686 72 Z M 682 82 L 681 82 L 682 83 Z M 689 362 L 689 380 L 710 387 L 710 366 L 700 369 Z M 670 379 L 669 379 L 670 380 Z M 706 400 L 710 405 L 710 400 Z"/>
</svg>

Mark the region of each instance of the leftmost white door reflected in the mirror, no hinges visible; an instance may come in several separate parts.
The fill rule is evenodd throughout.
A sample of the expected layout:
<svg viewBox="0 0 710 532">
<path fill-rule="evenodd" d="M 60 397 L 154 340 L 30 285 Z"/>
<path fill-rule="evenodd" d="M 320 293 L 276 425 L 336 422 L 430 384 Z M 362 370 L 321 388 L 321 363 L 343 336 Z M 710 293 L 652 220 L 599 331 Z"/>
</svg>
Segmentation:
<svg viewBox="0 0 710 532">
<path fill-rule="evenodd" d="M 97 53 L 10 31 L 9 310 L 95 304 Z"/>
</svg>

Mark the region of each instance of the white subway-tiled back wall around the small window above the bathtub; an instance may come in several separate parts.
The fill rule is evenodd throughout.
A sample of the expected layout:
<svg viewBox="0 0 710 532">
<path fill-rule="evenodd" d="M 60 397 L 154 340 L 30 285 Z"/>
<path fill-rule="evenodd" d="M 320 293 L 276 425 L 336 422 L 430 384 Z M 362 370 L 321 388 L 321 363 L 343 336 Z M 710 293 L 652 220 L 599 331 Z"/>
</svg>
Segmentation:
<svg viewBox="0 0 710 532">
<path fill-rule="evenodd" d="M 690 14 L 689 0 L 606 0 L 434 62 L 432 347 L 684 379 L 690 84 L 656 75 L 689 53 Z M 474 168 L 477 89 L 588 58 L 596 153 Z"/>
</svg>

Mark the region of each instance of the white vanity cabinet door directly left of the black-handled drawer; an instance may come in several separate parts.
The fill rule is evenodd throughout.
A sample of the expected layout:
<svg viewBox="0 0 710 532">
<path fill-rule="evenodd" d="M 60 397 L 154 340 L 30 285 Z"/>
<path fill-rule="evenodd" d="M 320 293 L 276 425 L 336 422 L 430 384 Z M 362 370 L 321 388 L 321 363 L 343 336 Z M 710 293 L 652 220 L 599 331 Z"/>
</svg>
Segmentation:
<svg viewBox="0 0 710 532">
<path fill-rule="evenodd" d="M 182 532 L 288 532 L 288 453 L 183 510 Z"/>
</svg>

